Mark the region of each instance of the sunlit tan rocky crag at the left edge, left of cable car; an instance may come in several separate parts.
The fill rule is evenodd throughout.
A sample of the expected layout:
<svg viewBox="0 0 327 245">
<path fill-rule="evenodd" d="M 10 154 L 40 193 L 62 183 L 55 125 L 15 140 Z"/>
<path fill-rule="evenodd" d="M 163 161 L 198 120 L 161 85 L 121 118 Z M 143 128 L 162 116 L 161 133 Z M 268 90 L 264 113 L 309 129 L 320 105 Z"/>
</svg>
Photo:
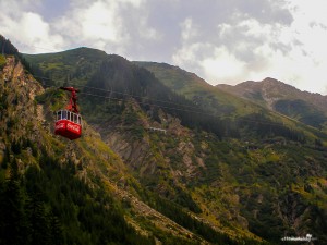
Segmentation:
<svg viewBox="0 0 327 245">
<path fill-rule="evenodd" d="M 35 96 L 44 88 L 33 76 L 25 73 L 23 65 L 14 57 L 8 57 L 0 75 L 2 126 L 19 138 L 26 133 L 37 137 L 37 124 L 44 120 L 37 113 Z M 41 107 L 39 108 L 41 111 Z"/>
</svg>

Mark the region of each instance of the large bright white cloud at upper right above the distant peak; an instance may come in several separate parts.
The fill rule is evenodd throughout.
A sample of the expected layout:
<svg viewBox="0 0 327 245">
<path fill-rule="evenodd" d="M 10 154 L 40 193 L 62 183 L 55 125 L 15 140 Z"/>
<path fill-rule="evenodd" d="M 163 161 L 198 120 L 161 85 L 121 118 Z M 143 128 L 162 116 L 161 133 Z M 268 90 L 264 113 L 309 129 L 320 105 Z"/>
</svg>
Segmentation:
<svg viewBox="0 0 327 245">
<path fill-rule="evenodd" d="M 197 66 L 198 74 L 211 84 L 271 76 L 302 90 L 326 93 L 327 15 L 323 5 L 323 1 L 292 1 L 289 25 L 259 22 L 237 11 L 230 22 L 217 25 L 219 40 L 184 42 L 173 61 L 182 68 Z"/>
</svg>

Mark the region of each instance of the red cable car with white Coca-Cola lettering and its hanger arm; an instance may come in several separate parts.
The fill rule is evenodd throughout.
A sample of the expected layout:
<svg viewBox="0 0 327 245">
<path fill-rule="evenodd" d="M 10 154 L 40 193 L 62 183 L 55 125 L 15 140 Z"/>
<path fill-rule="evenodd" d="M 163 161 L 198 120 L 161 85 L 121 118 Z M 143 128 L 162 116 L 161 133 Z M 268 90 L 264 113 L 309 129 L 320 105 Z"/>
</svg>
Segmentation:
<svg viewBox="0 0 327 245">
<path fill-rule="evenodd" d="M 77 89 L 73 87 L 60 87 L 60 89 L 71 93 L 70 103 L 66 109 L 57 111 L 57 121 L 55 126 L 55 134 L 66 137 L 71 140 L 80 138 L 82 134 L 82 117 L 77 108 Z"/>
</svg>

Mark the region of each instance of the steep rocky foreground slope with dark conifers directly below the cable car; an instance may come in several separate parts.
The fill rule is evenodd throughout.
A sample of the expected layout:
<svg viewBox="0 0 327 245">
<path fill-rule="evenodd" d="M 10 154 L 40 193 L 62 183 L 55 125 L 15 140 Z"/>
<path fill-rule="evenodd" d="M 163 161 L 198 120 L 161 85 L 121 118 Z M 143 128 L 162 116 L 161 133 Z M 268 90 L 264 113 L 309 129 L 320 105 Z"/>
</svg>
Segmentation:
<svg viewBox="0 0 327 245">
<path fill-rule="evenodd" d="M 208 244 L 142 201 L 149 194 L 86 122 L 78 142 L 55 136 L 52 112 L 65 96 L 4 59 L 1 244 Z"/>
</svg>

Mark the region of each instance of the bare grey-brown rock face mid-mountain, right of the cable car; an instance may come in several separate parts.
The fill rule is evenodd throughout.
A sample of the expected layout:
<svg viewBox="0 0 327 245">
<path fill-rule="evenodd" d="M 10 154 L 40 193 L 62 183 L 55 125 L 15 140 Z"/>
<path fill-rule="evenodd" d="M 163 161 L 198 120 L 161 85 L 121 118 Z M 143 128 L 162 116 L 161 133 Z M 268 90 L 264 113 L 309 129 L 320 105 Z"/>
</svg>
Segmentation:
<svg viewBox="0 0 327 245">
<path fill-rule="evenodd" d="M 140 107 L 134 107 L 137 113 L 143 113 Z M 104 127 L 94 125 L 100 132 L 102 139 L 113 149 L 132 169 L 140 172 L 143 176 L 158 174 L 161 168 L 169 169 L 174 176 L 195 177 L 198 173 L 198 168 L 205 168 L 202 158 L 194 158 L 195 148 L 190 137 L 190 130 L 182 126 L 180 121 L 169 114 L 160 112 L 160 121 L 165 122 L 165 131 L 152 131 L 149 125 L 160 128 L 158 122 L 149 119 L 143 119 L 144 125 L 143 137 L 135 138 L 128 127 L 123 125 L 112 125 Z M 108 130 L 109 128 L 109 130 Z M 154 142 L 154 139 L 156 140 Z M 174 138 L 175 148 L 167 146 L 167 140 Z M 158 144 L 158 145 L 155 145 Z M 180 171 L 175 162 L 172 162 L 169 156 L 179 156 L 180 167 L 185 171 Z M 175 181 L 180 181 L 175 179 Z"/>
</svg>

